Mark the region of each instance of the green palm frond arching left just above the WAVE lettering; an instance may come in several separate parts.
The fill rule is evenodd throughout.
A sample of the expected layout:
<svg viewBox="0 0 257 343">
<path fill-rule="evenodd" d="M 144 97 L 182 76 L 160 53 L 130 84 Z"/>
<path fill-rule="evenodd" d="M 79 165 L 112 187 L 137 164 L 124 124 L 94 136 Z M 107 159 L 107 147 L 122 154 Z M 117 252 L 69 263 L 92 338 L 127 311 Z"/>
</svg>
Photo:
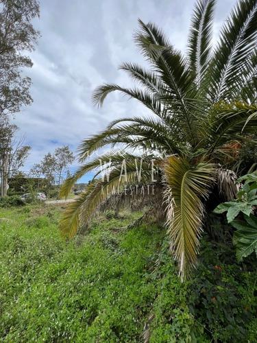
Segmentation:
<svg viewBox="0 0 257 343">
<path fill-rule="evenodd" d="M 175 120 L 165 119 L 166 123 L 162 119 L 134 117 L 113 121 L 106 130 L 79 144 L 79 162 L 84 163 L 94 152 L 108 145 L 112 149 L 123 144 L 127 148 L 145 149 L 151 146 L 152 150 L 160 152 L 178 152 L 178 140 L 183 139 L 183 132 L 178 130 Z"/>
</svg>

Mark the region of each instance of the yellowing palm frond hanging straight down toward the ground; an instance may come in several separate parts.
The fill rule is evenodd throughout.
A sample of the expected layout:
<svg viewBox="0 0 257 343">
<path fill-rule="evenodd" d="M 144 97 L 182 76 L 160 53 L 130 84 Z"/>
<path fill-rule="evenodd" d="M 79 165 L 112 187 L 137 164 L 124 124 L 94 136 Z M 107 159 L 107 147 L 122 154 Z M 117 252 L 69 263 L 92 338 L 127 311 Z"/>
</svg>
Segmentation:
<svg viewBox="0 0 257 343">
<path fill-rule="evenodd" d="M 164 163 L 167 184 L 167 232 L 171 251 L 178 259 L 180 276 L 195 265 L 204 215 L 203 200 L 215 181 L 215 165 L 199 163 L 194 167 L 185 158 L 171 156 Z"/>
</svg>

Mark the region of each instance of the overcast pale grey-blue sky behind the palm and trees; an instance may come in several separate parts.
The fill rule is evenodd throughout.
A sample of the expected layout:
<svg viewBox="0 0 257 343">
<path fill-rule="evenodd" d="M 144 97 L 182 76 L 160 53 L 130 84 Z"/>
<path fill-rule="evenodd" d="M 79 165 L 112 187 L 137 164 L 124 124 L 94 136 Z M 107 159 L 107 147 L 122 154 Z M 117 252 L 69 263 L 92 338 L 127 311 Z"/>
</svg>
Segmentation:
<svg viewBox="0 0 257 343">
<path fill-rule="evenodd" d="M 25 143 L 32 146 L 23 170 L 56 147 L 79 142 L 103 130 L 119 117 L 143 115 L 146 109 L 119 93 L 110 95 L 103 108 L 95 108 L 91 95 L 103 82 L 130 84 L 121 62 L 145 63 L 133 41 L 138 18 L 162 28 L 171 43 L 186 49 L 193 0 L 41 0 L 40 30 L 32 78 L 32 106 L 16 115 L 15 123 Z M 235 0 L 217 0 L 215 33 L 218 34 Z M 73 164 L 73 169 L 78 164 Z"/>
</svg>

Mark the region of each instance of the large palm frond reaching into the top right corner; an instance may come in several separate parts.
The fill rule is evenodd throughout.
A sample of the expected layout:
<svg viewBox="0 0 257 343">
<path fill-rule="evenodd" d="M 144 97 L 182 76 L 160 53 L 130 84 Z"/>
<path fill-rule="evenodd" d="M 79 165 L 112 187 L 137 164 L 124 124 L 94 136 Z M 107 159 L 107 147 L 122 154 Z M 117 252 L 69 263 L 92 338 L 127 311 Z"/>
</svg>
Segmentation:
<svg viewBox="0 0 257 343">
<path fill-rule="evenodd" d="M 242 64 L 256 45 L 256 0 L 241 0 L 223 24 L 219 43 L 208 73 L 208 95 L 213 104 L 220 99 L 231 99 L 236 89 Z"/>
</svg>

